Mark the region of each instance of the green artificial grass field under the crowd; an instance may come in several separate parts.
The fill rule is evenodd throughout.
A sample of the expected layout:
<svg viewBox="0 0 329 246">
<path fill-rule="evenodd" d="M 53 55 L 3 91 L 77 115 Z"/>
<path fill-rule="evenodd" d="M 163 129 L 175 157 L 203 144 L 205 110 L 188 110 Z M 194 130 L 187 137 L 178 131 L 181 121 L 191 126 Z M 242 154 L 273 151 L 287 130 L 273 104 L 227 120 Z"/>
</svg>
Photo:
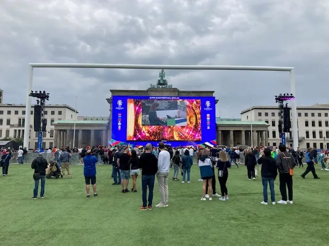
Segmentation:
<svg viewBox="0 0 329 246">
<path fill-rule="evenodd" d="M 30 166 L 11 165 L 0 177 L 0 245 L 329 245 L 329 172 L 319 169 L 319 180 L 296 169 L 293 205 L 264 206 L 261 180 L 249 181 L 244 166 L 229 170 L 230 200 L 200 201 L 194 165 L 192 183 L 169 180 L 168 208 L 139 211 L 140 177 L 138 193 L 122 194 L 111 166 L 97 167 L 98 197 L 86 198 L 83 167 L 73 166 L 72 179 L 47 179 L 45 199 L 31 200 Z"/>
</svg>

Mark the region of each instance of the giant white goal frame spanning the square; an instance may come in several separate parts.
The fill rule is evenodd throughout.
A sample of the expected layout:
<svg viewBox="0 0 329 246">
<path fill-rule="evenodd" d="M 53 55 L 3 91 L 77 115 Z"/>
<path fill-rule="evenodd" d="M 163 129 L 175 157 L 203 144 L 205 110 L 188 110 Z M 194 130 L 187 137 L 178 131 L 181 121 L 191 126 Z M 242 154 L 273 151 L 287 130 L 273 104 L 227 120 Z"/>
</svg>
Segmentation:
<svg viewBox="0 0 329 246">
<path fill-rule="evenodd" d="M 290 93 L 296 96 L 296 85 L 293 67 L 258 67 L 258 66 L 216 66 L 216 65 L 146 65 L 146 64 L 80 64 L 80 63 L 30 63 L 28 66 L 28 80 L 25 108 L 24 145 L 29 147 L 31 97 L 29 96 L 33 84 L 33 68 L 114 68 L 114 69 L 179 69 L 179 70 L 248 70 L 248 71 L 283 71 L 290 73 Z M 296 100 L 291 100 L 293 113 L 293 148 L 298 147 L 297 106 Z"/>
</svg>

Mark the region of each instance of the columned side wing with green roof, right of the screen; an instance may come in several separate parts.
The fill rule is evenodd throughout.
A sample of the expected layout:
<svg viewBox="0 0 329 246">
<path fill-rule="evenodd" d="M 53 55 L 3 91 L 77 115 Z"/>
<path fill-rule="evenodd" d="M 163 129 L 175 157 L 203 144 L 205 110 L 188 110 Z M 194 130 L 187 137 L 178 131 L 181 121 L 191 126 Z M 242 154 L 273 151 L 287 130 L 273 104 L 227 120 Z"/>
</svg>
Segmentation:
<svg viewBox="0 0 329 246">
<path fill-rule="evenodd" d="M 263 121 L 216 118 L 217 145 L 229 147 L 240 145 L 269 146 L 268 126 Z"/>
</svg>

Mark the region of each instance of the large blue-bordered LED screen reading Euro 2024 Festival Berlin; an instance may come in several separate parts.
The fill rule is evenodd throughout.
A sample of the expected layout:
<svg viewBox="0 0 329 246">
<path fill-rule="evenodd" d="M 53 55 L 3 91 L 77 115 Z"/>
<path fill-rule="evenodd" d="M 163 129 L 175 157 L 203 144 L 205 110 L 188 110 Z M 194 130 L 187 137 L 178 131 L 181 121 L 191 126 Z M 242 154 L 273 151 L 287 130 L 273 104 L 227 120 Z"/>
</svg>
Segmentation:
<svg viewBox="0 0 329 246">
<path fill-rule="evenodd" d="M 112 138 L 193 145 L 216 138 L 214 97 L 113 96 Z"/>
</svg>

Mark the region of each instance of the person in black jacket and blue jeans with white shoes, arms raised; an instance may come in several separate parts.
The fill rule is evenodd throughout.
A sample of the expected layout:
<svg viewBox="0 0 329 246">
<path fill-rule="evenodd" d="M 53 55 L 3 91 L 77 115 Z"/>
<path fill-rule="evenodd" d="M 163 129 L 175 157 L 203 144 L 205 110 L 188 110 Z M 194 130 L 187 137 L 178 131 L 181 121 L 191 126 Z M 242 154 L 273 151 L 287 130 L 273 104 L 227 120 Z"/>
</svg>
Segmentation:
<svg viewBox="0 0 329 246">
<path fill-rule="evenodd" d="M 262 183 L 263 183 L 263 196 L 264 200 L 261 202 L 267 205 L 267 183 L 269 183 L 269 190 L 271 192 L 271 202 L 276 204 L 275 192 L 274 192 L 274 180 L 277 178 L 278 169 L 276 160 L 271 156 L 271 150 L 266 148 L 261 158 L 258 159 L 258 163 L 261 166 Z"/>
</svg>

